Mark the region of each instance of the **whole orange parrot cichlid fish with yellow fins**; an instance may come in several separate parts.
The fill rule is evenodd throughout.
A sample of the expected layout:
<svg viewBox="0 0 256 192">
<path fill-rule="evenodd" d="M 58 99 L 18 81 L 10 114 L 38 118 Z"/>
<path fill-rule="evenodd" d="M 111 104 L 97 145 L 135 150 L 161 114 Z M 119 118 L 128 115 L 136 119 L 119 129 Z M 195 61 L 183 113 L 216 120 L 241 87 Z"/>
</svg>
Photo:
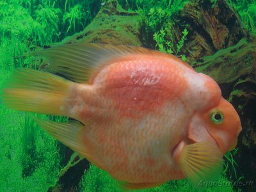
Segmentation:
<svg viewBox="0 0 256 192">
<path fill-rule="evenodd" d="M 223 155 L 236 147 L 236 110 L 211 77 L 173 55 L 102 44 L 32 54 L 54 74 L 15 70 L 4 104 L 76 119 L 36 122 L 126 189 L 186 177 L 196 184 L 219 173 Z"/>
</svg>

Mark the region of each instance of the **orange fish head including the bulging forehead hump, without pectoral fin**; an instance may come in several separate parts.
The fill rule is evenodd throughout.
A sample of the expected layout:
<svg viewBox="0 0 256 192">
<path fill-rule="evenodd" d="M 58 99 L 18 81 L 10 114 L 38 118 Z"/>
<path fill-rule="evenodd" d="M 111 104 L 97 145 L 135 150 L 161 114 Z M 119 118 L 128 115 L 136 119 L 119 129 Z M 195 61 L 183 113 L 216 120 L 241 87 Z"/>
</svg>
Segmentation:
<svg viewBox="0 0 256 192">
<path fill-rule="evenodd" d="M 202 95 L 199 95 L 200 109 L 195 109 L 188 126 L 188 143 L 212 143 L 218 146 L 221 154 L 236 147 L 237 138 L 242 130 L 236 109 L 221 97 L 216 81 L 205 74 Z M 196 100 L 196 99 L 194 99 Z M 195 101 L 193 100 L 193 103 Z"/>
</svg>

